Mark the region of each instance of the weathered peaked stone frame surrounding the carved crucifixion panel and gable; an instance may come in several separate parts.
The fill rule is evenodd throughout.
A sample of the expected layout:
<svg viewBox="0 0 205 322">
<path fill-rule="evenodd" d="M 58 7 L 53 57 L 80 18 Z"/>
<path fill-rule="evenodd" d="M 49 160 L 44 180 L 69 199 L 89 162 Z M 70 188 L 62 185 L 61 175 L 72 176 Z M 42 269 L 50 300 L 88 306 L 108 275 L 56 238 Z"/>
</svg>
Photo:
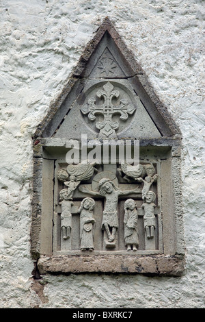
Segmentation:
<svg viewBox="0 0 205 322">
<path fill-rule="evenodd" d="M 141 101 L 148 108 L 152 120 L 157 123 L 161 138 L 140 140 L 140 153 L 149 153 L 161 158 L 162 216 L 163 233 L 160 251 L 138 251 L 128 253 L 57 253 L 53 249 L 53 177 L 55 164 L 53 155 L 58 150 L 64 158 L 66 140 L 53 138 L 52 133 L 61 123 L 64 112 L 64 99 L 73 92 L 80 92 L 82 78 L 86 76 L 86 62 L 92 60 L 100 39 L 109 32 L 112 41 L 126 57 L 126 67 L 132 75 L 133 86 L 141 93 Z M 31 254 L 38 262 L 40 274 L 44 273 L 142 273 L 146 275 L 173 275 L 184 273 L 184 238 L 182 221 L 182 196 L 180 182 L 180 130 L 172 121 L 165 106 L 154 94 L 145 73 L 135 62 L 133 55 L 126 49 L 122 39 L 108 18 L 102 23 L 92 42 L 63 90 L 59 99 L 53 103 L 48 115 L 33 136 L 33 201 L 31 225 Z M 151 152 L 150 152 L 151 151 Z M 167 185 L 167 182 L 169 183 Z M 169 187 L 172 187 L 170 190 Z M 45 188 L 46 187 L 46 188 Z M 49 214 L 53 214 L 52 216 Z"/>
</svg>

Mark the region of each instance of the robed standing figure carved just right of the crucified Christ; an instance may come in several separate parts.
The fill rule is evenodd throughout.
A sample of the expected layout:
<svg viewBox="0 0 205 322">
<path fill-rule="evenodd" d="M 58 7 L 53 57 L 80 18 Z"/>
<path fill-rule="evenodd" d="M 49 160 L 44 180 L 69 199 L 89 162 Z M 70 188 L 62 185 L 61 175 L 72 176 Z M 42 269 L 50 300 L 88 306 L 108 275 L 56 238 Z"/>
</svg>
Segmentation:
<svg viewBox="0 0 205 322">
<path fill-rule="evenodd" d="M 137 227 L 137 205 L 135 200 L 127 199 L 124 203 L 124 242 L 126 249 L 137 251 L 139 246 L 139 236 Z"/>
</svg>

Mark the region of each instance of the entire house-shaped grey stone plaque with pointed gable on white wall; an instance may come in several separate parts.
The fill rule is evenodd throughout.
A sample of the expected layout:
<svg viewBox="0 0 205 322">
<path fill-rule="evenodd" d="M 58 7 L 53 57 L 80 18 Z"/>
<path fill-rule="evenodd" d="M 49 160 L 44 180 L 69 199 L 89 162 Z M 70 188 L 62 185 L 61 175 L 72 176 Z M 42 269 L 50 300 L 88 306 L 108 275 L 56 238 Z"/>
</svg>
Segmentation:
<svg viewBox="0 0 205 322">
<path fill-rule="evenodd" d="M 33 136 L 31 254 L 40 274 L 182 275 L 180 146 L 106 18 Z"/>
</svg>

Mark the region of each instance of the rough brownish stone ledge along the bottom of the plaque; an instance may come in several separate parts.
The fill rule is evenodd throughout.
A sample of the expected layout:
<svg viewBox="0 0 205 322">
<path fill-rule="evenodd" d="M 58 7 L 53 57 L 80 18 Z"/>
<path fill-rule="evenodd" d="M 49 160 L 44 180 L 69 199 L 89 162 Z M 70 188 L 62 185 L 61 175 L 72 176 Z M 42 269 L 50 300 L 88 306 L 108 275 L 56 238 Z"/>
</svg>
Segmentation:
<svg viewBox="0 0 205 322">
<path fill-rule="evenodd" d="M 183 256 L 52 256 L 38 260 L 40 274 L 46 273 L 140 273 L 181 276 Z"/>
</svg>

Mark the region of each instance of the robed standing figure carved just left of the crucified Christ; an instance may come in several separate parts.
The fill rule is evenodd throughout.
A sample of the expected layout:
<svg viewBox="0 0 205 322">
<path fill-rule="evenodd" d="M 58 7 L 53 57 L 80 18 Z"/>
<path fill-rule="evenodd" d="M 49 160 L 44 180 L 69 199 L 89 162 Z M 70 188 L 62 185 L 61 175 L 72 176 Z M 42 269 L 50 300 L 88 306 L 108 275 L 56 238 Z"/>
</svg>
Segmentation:
<svg viewBox="0 0 205 322">
<path fill-rule="evenodd" d="M 85 198 L 78 210 L 80 214 L 80 249 L 82 251 L 94 249 L 94 223 L 93 216 L 95 201 L 92 198 Z"/>
</svg>

